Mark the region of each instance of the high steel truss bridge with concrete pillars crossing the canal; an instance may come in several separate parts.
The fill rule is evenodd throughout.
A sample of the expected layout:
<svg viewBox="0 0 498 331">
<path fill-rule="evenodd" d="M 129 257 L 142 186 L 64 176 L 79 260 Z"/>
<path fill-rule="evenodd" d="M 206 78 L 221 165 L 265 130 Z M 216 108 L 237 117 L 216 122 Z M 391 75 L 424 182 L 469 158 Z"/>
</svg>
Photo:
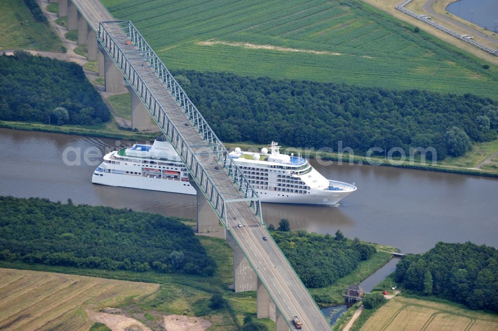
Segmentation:
<svg viewBox="0 0 498 331">
<path fill-rule="evenodd" d="M 106 90 L 120 89 L 124 77 L 135 104 L 154 118 L 187 166 L 198 191 L 197 230 L 217 231 L 223 224 L 235 250 L 235 291 L 255 290 L 257 317 L 272 318 L 277 331 L 294 329 L 293 316 L 303 323 L 302 330 L 331 330 L 267 232 L 257 193 L 135 26 L 115 20 L 99 0 L 58 2 L 60 9 L 67 8 L 69 25 L 83 30 L 89 57 L 97 51 L 90 42 L 99 44 Z"/>
</svg>

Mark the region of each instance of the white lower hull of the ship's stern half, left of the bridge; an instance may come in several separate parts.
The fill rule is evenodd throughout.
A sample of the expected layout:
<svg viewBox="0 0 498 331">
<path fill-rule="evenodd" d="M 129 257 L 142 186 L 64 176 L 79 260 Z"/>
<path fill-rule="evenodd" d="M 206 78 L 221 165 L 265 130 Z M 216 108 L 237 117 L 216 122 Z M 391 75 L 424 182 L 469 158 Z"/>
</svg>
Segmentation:
<svg viewBox="0 0 498 331">
<path fill-rule="evenodd" d="M 101 176 L 102 175 L 102 176 Z M 93 174 L 92 183 L 109 186 L 129 187 L 132 189 L 162 191 L 195 195 L 195 189 L 189 182 L 166 180 L 154 177 L 133 176 L 125 174 Z"/>
</svg>

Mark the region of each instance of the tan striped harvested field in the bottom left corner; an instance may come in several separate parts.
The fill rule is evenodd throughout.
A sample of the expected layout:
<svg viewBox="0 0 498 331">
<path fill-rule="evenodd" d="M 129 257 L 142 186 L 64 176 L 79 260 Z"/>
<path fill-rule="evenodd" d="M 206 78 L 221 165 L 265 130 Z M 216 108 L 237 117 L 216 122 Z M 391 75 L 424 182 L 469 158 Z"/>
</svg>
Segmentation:
<svg viewBox="0 0 498 331">
<path fill-rule="evenodd" d="M 85 309 L 143 296 L 157 284 L 0 268 L 0 330 L 88 331 Z"/>
</svg>

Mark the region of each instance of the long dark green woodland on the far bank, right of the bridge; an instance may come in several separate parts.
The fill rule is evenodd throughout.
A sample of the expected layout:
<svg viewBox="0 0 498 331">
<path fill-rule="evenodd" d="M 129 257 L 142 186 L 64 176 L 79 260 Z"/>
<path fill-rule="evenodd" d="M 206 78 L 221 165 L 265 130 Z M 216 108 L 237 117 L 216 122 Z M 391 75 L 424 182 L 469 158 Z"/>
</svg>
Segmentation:
<svg viewBox="0 0 498 331">
<path fill-rule="evenodd" d="M 438 159 L 497 137 L 498 103 L 474 95 L 359 88 L 228 73 L 175 71 L 223 141 L 296 147 L 434 147 Z M 422 87 L 421 87 L 422 88 Z M 384 155 L 384 153 L 381 153 Z M 396 155 L 396 154 L 394 154 Z M 399 154 L 398 154 L 399 155 Z M 430 156 L 430 155 L 428 155 Z"/>
</svg>

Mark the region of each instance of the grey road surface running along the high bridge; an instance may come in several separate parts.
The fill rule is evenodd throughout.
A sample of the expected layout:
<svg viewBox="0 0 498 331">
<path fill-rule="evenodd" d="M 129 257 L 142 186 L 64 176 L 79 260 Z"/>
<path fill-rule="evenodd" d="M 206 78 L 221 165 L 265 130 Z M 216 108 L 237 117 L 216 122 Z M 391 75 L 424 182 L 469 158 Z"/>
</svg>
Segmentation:
<svg viewBox="0 0 498 331">
<path fill-rule="evenodd" d="M 98 30 L 101 21 L 114 20 L 99 0 L 72 1 L 94 31 Z M 124 35 L 115 35 L 115 37 L 121 37 L 123 40 Z M 130 47 L 134 46 L 126 45 L 124 48 Z M 138 66 L 136 63 L 135 65 Z M 150 77 L 151 74 L 153 74 L 152 68 L 140 66 L 140 76 Z M 161 92 L 162 94 L 169 93 L 165 84 L 161 83 L 162 80 L 159 79 L 150 83 L 155 86 L 151 88 L 152 93 L 154 91 Z M 173 97 L 170 100 L 163 98 L 161 106 L 168 114 L 168 117 L 173 118 L 171 122 L 177 128 L 180 128 L 182 135 L 189 136 L 189 143 L 191 145 L 202 145 L 204 143 L 203 134 L 199 134 L 193 125 L 185 127 L 185 123 L 189 122 L 189 118 L 178 107 Z M 205 151 L 202 147 L 192 147 L 192 150 L 194 152 Z M 177 152 L 180 153 L 180 151 Z M 215 166 L 216 164 L 221 164 L 222 161 L 210 156 L 204 156 L 201 161 L 203 167 L 207 169 L 208 176 L 213 179 L 215 184 L 225 183 L 226 185 L 227 182 L 233 183 L 227 171 L 220 171 L 219 167 Z M 197 181 L 199 182 L 199 178 L 197 178 Z M 228 197 L 226 199 L 230 199 L 230 196 L 240 196 L 240 194 L 241 191 L 235 184 L 229 189 L 226 186 L 224 187 L 224 195 Z M 226 205 L 226 227 L 228 231 L 232 233 L 238 242 L 248 258 L 250 265 L 268 291 L 270 298 L 287 321 L 287 324 L 292 326 L 292 316 L 297 315 L 303 322 L 303 331 L 330 331 L 331 327 L 329 323 L 295 274 L 283 253 L 268 234 L 266 228 L 259 224 L 259 217 L 254 215 L 253 210 L 249 208 L 249 203 L 246 201 L 227 202 Z M 238 227 L 238 223 L 242 223 L 244 226 Z M 263 240 L 263 236 L 267 236 L 268 240 Z"/>
</svg>

